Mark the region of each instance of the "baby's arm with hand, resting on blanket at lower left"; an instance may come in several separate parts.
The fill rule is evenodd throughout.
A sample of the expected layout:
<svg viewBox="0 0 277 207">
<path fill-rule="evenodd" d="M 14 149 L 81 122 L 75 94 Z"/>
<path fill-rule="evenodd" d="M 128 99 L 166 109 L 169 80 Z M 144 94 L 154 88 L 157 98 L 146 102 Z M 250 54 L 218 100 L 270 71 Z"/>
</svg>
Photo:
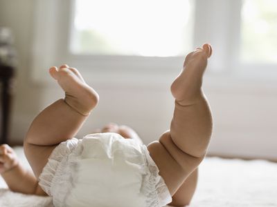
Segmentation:
<svg viewBox="0 0 277 207">
<path fill-rule="evenodd" d="M 15 151 L 6 144 L 0 146 L 0 173 L 12 191 L 46 195 L 39 188 L 35 175 L 19 163 Z"/>
</svg>

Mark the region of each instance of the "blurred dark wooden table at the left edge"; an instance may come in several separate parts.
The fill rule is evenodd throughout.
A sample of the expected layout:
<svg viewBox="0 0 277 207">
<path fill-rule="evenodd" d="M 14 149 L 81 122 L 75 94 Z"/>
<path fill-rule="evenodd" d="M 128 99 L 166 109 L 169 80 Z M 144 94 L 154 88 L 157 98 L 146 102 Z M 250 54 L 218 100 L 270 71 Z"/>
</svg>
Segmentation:
<svg viewBox="0 0 277 207">
<path fill-rule="evenodd" d="M 1 83 L 0 144 L 8 144 L 10 108 L 11 108 L 11 101 L 12 101 L 12 79 L 14 75 L 15 75 L 15 68 L 13 68 L 12 66 L 0 65 L 0 83 Z"/>
</svg>

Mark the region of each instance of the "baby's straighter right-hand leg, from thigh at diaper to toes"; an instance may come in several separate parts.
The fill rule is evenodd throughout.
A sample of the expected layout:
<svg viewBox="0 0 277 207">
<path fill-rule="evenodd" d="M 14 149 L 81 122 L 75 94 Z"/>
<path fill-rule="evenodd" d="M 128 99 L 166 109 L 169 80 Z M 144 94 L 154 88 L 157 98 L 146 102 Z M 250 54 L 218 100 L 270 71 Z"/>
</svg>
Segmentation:
<svg viewBox="0 0 277 207">
<path fill-rule="evenodd" d="M 202 92 L 202 76 L 211 52 L 211 46 L 205 44 L 186 57 L 184 70 L 171 86 L 175 112 L 170 131 L 148 146 L 172 196 L 180 187 L 195 190 L 183 184 L 204 158 L 211 138 L 211 111 Z"/>
</svg>

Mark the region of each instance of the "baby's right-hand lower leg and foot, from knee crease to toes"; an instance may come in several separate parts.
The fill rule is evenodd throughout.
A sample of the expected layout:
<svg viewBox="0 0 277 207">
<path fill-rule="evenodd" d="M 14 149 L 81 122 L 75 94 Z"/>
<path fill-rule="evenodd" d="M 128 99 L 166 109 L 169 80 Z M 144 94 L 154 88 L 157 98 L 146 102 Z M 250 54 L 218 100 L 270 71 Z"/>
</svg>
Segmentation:
<svg viewBox="0 0 277 207">
<path fill-rule="evenodd" d="M 175 112 L 170 136 L 182 151 L 193 157 L 206 154 L 212 133 L 211 111 L 202 92 L 202 77 L 211 52 L 208 44 L 191 52 L 186 57 L 184 70 L 171 86 Z"/>
</svg>

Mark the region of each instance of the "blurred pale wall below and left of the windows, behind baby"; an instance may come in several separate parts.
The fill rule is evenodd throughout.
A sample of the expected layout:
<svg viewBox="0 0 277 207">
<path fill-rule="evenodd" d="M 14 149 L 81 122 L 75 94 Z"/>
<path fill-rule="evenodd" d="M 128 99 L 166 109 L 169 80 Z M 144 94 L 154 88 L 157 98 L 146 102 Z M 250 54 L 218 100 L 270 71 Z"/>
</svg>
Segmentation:
<svg viewBox="0 0 277 207">
<path fill-rule="evenodd" d="M 12 28 L 19 56 L 10 128 L 12 141 L 24 139 L 35 115 L 62 96 L 55 85 L 43 86 L 30 79 L 34 2 L 0 0 L 0 26 Z M 176 68 L 172 70 L 178 71 Z M 174 75 L 170 74 L 168 80 L 173 79 Z M 170 126 L 172 116 L 173 99 L 168 90 L 168 80 L 157 86 L 132 83 L 94 86 L 91 83 L 100 94 L 100 103 L 78 137 L 114 121 L 132 126 L 145 143 L 157 139 Z M 206 77 L 204 89 L 214 118 L 213 139 L 209 149 L 211 154 L 277 159 L 276 83 L 257 79 L 245 81 L 233 77 Z"/>
</svg>

